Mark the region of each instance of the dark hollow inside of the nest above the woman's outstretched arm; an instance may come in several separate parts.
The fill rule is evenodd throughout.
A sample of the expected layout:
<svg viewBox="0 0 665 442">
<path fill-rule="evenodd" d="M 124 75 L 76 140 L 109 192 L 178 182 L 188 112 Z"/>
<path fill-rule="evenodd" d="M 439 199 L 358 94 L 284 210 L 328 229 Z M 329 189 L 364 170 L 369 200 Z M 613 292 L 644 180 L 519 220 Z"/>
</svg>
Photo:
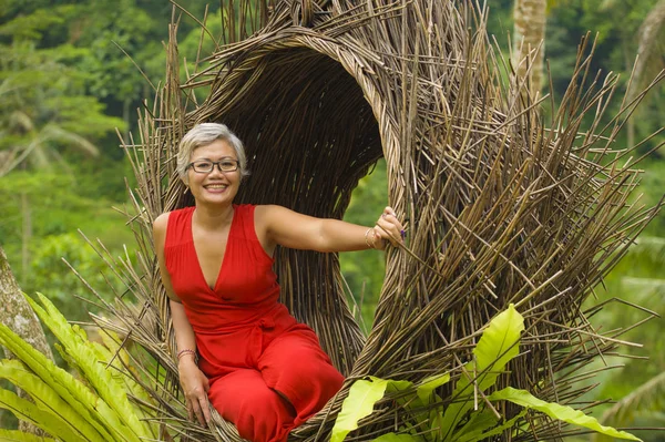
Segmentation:
<svg viewBox="0 0 665 442">
<path fill-rule="evenodd" d="M 383 155 L 358 82 L 338 61 L 301 47 L 243 64 L 243 75 L 232 69 L 235 81 L 216 85 L 239 96 L 208 119 L 245 143 L 253 174 L 238 201 L 340 218 L 358 179 Z"/>
</svg>

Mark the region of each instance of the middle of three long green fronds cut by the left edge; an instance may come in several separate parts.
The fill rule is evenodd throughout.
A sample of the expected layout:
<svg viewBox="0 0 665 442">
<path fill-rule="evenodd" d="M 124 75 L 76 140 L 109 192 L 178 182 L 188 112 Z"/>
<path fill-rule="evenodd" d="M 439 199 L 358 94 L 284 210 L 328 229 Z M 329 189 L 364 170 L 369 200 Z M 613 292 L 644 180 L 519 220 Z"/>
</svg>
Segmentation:
<svg viewBox="0 0 665 442">
<path fill-rule="evenodd" d="M 40 410 L 53 414 L 54 418 L 68 424 L 72 432 L 78 434 L 78 438 L 81 440 L 104 442 L 100 433 L 81 414 L 63 401 L 52 388 L 25 370 L 20 361 L 0 361 L 0 378 L 7 379 L 16 387 L 25 391 Z M 57 433 L 51 434 L 60 436 Z"/>
</svg>

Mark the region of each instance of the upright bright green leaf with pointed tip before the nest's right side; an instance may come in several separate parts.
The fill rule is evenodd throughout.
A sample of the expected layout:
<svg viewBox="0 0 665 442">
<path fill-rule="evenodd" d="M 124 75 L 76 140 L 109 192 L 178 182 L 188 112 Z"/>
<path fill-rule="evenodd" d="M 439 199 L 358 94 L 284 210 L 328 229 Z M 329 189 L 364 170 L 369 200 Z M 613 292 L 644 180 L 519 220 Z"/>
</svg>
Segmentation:
<svg viewBox="0 0 665 442">
<path fill-rule="evenodd" d="M 519 354 L 520 335 L 524 330 L 524 318 L 511 304 L 507 310 L 497 315 L 483 331 L 473 349 L 475 361 L 464 366 L 452 392 L 453 402 L 446 409 L 440 436 L 453 441 L 454 430 L 473 407 L 473 383 L 485 391 L 497 382 L 499 374 L 515 356 Z"/>
</svg>

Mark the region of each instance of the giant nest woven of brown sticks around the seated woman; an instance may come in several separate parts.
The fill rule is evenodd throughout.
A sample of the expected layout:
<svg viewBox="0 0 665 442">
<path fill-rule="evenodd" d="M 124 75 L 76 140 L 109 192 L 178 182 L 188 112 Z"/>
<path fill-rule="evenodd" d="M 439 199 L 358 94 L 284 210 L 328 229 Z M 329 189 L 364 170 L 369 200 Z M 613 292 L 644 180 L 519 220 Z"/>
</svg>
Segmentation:
<svg viewBox="0 0 665 442">
<path fill-rule="evenodd" d="M 139 183 L 131 222 L 141 259 L 139 270 L 119 271 L 139 304 L 120 301 L 114 321 L 98 319 L 156 361 L 163 376 L 142 382 L 172 434 L 239 439 L 218 415 L 211 429 L 186 421 L 150 239 L 157 215 L 192 204 L 175 153 L 200 122 L 227 124 L 244 141 L 253 175 L 242 203 L 340 218 L 358 181 L 385 157 L 388 203 L 409 225 L 406 246 L 387 251 L 367 337 L 347 305 L 336 254 L 277 251 L 283 301 L 347 377 L 290 439 L 327 439 L 349 386 L 365 376 L 462 376 L 480 330 L 509 304 L 526 329 L 500 383 L 571 404 L 586 391 L 575 381 L 621 343 L 621 331 L 600 335 L 587 320 L 597 308 L 582 304 L 657 209 L 631 202 L 638 172 L 631 151 L 614 146 L 641 96 L 604 115 L 616 78 L 589 72 L 584 41 L 571 85 L 545 121 L 528 81 L 495 55 L 485 18 L 470 1 L 235 1 L 223 14 L 225 44 L 187 72 L 174 21 L 166 81 L 139 135 L 124 141 Z M 441 397 L 452 401 L 446 387 Z M 395 431 L 402 414 L 383 401 L 348 438 Z M 511 440 L 570 433 L 546 418 L 521 419 L 529 424 Z"/>
</svg>

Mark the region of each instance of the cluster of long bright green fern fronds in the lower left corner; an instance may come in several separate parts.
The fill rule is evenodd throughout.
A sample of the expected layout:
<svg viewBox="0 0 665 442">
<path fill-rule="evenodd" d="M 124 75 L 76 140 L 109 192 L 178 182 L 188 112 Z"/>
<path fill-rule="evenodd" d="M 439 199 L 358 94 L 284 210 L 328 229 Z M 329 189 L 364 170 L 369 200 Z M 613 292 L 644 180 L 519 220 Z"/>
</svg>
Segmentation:
<svg viewBox="0 0 665 442">
<path fill-rule="evenodd" d="M 0 378 L 23 389 L 34 401 L 0 390 L 0 407 L 41 428 L 62 441 L 135 441 L 154 439 L 155 429 L 143 419 L 144 412 L 127 398 L 131 388 L 114 367 L 108 366 L 110 350 L 90 342 L 83 330 L 70 326 L 55 307 L 42 295 L 41 306 L 28 301 L 49 329 L 58 337 L 61 351 L 82 381 L 57 367 L 42 353 L 0 325 L 0 343 L 18 360 L 0 362 Z M 102 358 L 104 357 L 104 358 Z M 147 398 L 145 392 L 140 393 Z M 17 434 L 16 432 L 12 434 Z"/>
</svg>

